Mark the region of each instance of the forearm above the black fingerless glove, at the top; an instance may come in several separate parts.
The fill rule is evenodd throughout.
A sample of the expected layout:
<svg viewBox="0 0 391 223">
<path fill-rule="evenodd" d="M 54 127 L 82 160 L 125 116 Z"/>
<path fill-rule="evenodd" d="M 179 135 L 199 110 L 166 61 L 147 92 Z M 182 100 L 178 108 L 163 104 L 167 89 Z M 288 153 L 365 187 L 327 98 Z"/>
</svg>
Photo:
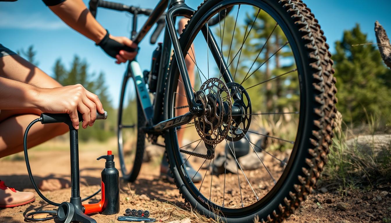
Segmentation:
<svg viewBox="0 0 391 223">
<path fill-rule="evenodd" d="M 106 30 L 95 20 L 82 0 L 66 0 L 49 8 L 72 29 L 95 43 L 99 43 L 106 35 Z"/>
</svg>

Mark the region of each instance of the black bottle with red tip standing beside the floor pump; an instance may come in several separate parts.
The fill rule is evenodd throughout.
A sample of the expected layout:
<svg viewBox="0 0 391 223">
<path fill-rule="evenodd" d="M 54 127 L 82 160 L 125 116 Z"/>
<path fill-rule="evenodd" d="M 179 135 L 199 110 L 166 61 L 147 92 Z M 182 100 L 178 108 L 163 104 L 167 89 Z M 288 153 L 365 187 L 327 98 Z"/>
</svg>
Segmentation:
<svg viewBox="0 0 391 223">
<path fill-rule="evenodd" d="M 114 155 L 111 150 L 107 155 L 99 157 L 97 160 L 106 159 L 102 170 L 102 200 L 104 200 L 101 214 L 117 214 L 120 211 L 120 189 L 119 172 L 115 168 Z"/>
</svg>

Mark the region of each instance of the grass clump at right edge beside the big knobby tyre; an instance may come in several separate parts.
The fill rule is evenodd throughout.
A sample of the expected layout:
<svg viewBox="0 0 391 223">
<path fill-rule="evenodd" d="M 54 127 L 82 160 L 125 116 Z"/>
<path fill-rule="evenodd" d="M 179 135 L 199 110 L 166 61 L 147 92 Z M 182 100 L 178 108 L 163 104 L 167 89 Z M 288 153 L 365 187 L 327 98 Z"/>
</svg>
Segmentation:
<svg viewBox="0 0 391 223">
<path fill-rule="evenodd" d="M 330 147 L 328 164 L 323 175 L 324 180 L 334 182 L 341 190 L 349 188 L 391 187 L 391 146 L 384 145 L 381 148 L 381 156 L 375 156 L 375 133 L 377 132 L 378 121 L 373 116 L 367 116 L 368 126 L 364 134 L 370 135 L 368 141 L 371 151 L 364 151 L 359 148 L 357 140 L 348 145 L 348 139 L 357 139 L 358 135 L 348 128 L 342 121 L 342 116 L 337 115 L 337 128 L 333 145 Z M 343 130 L 343 126 L 345 130 Z"/>
</svg>

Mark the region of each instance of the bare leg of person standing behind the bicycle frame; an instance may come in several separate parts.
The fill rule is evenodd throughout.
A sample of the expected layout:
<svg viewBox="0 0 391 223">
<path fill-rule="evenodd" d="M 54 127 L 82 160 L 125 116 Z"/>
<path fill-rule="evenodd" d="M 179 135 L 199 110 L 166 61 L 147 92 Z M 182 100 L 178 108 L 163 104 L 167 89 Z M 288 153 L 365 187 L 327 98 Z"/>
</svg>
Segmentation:
<svg viewBox="0 0 391 223">
<path fill-rule="evenodd" d="M 179 30 L 179 34 L 182 33 L 182 30 L 185 29 L 185 25 L 187 24 L 187 21 L 188 19 L 187 18 L 183 18 L 179 21 L 179 25 L 178 25 L 178 30 Z M 194 45 L 192 44 L 190 46 L 194 52 Z M 195 53 L 195 52 L 194 52 Z M 185 57 L 185 64 L 186 64 L 186 68 L 187 68 L 187 73 L 189 75 L 189 79 L 190 79 L 190 83 L 192 84 L 192 86 L 194 86 L 194 68 L 195 68 L 195 65 L 194 65 L 194 58 L 192 58 L 193 55 L 187 55 Z M 185 88 L 183 87 L 183 81 L 182 81 L 182 78 L 179 77 L 179 83 L 178 83 L 178 88 L 177 88 L 177 92 L 178 92 L 178 96 L 176 98 L 176 107 L 180 107 L 180 106 L 186 106 L 188 105 L 187 104 L 187 99 L 184 97 L 184 96 L 181 96 L 181 95 L 186 95 L 185 93 Z M 184 108 L 184 109 L 176 109 L 176 116 L 179 116 L 179 115 L 182 115 L 182 114 L 186 114 L 188 112 L 188 108 Z M 186 125 L 183 125 L 182 127 L 185 127 Z M 178 137 L 178 144 L 179 144 L 179 147 L 182 146 L 182 140 L 183 140 L 183 131 L 177 131 L 177 137 Z"/>
</svg>

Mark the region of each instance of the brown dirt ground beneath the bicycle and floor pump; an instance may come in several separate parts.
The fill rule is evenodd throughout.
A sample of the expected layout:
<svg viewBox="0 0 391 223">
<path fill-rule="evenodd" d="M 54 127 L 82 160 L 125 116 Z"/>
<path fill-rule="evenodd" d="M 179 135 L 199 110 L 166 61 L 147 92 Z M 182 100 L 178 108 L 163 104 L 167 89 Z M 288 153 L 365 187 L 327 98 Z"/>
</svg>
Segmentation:
<svg viewBox="0 0 391 223">
<path fill-rule="evenodd" d="M 85 197 L 99 189 L 100 171 L 104 168 L 104 161 L 97 161 L 96 158 L 105 153 L 105 148 L 97 150 L 81 150 L 80 152 L 80 177 L 81 196 Z M 69 152 L 68 150 L 30 152 L 31 166 L 37 182 L 47 178 L 65 178 L 69 180 Z M 0 160 L 0 178 L 7 185 L 21 191 L 34 191 L 27 175 L 25 162 L 22 155 L 16 156 L 19 159 Z M 117 168 L 119 166 L 116 160 Z M 279 170 L 277 169 L 276 172 Z M 158 221 L 170 222 L 189 217 L 192 222 L 212 222 L 203 216 L 194 214 L 185 203 L 174 184 L 161 180 L 159 177 L 159 166 L 156 162 L 145 163 L 135 183 L 121 181 L 121 210 L 120 213 L 112 216 L 93 214 L 92 217 L 98 223 L 118 222 L 117 217 L 123 215 L 125 209 L 148 209 L 151 211 L 151 218 Z M 205 173 L 203 171 L 202 173 Z M 236 176 L 236 175 L 235 175 Z M 233 178 L 233 177 L 231 177 Z M 232 179 L 237 180 L 237 179 Z M 210 182 L 210 181 L 209 181 Z M 215 181 L 213 181 L 215 182 Z M 237 181 L 236 181 L 237 182 Z M 208 183 L 208 180 L 204 182 Z M 267 187 L 267 182 L 264 183 Z M 210 188 L 210 187 L 208 187 Z M 219 191 L 219 185 L 214 185 L 214 190 Z M 345 191 L 343 192 L 326 186 L 326 189 L 318 189 L 303 203 L 286 222 L 391 222 L 391 194 L 385 190 L 372 191 Z M 389 187 L 387 187 L 389 188 Z M 237 193 L 231 191 L 231 193 Z M 54 202 L 63 202 L 69 199 L 70 189 L 60 189 L 53 192 L 43 193 Z M 342 195 L 343 194 L 343 195 Z M 239 196 L 239 194 L 237 194 Z M 345 196 L 346 195 L 346 196 Z M 216 195 L 218 199 L 219 195 Z M 90 200 L 97 203 L 100 195 Z M 88 202 L 86 202 L 88 203 Z M 235 200 L 231 201 L 233 206 Z M 25 222 L 24 214 L 31 210 L 54 209 L 38 195 L 36 201 L 15 208 L 0 209 L 0 222 L 19 223 Z M 54 220 L 48 223 L 56 222 Z"/>
</svg>

